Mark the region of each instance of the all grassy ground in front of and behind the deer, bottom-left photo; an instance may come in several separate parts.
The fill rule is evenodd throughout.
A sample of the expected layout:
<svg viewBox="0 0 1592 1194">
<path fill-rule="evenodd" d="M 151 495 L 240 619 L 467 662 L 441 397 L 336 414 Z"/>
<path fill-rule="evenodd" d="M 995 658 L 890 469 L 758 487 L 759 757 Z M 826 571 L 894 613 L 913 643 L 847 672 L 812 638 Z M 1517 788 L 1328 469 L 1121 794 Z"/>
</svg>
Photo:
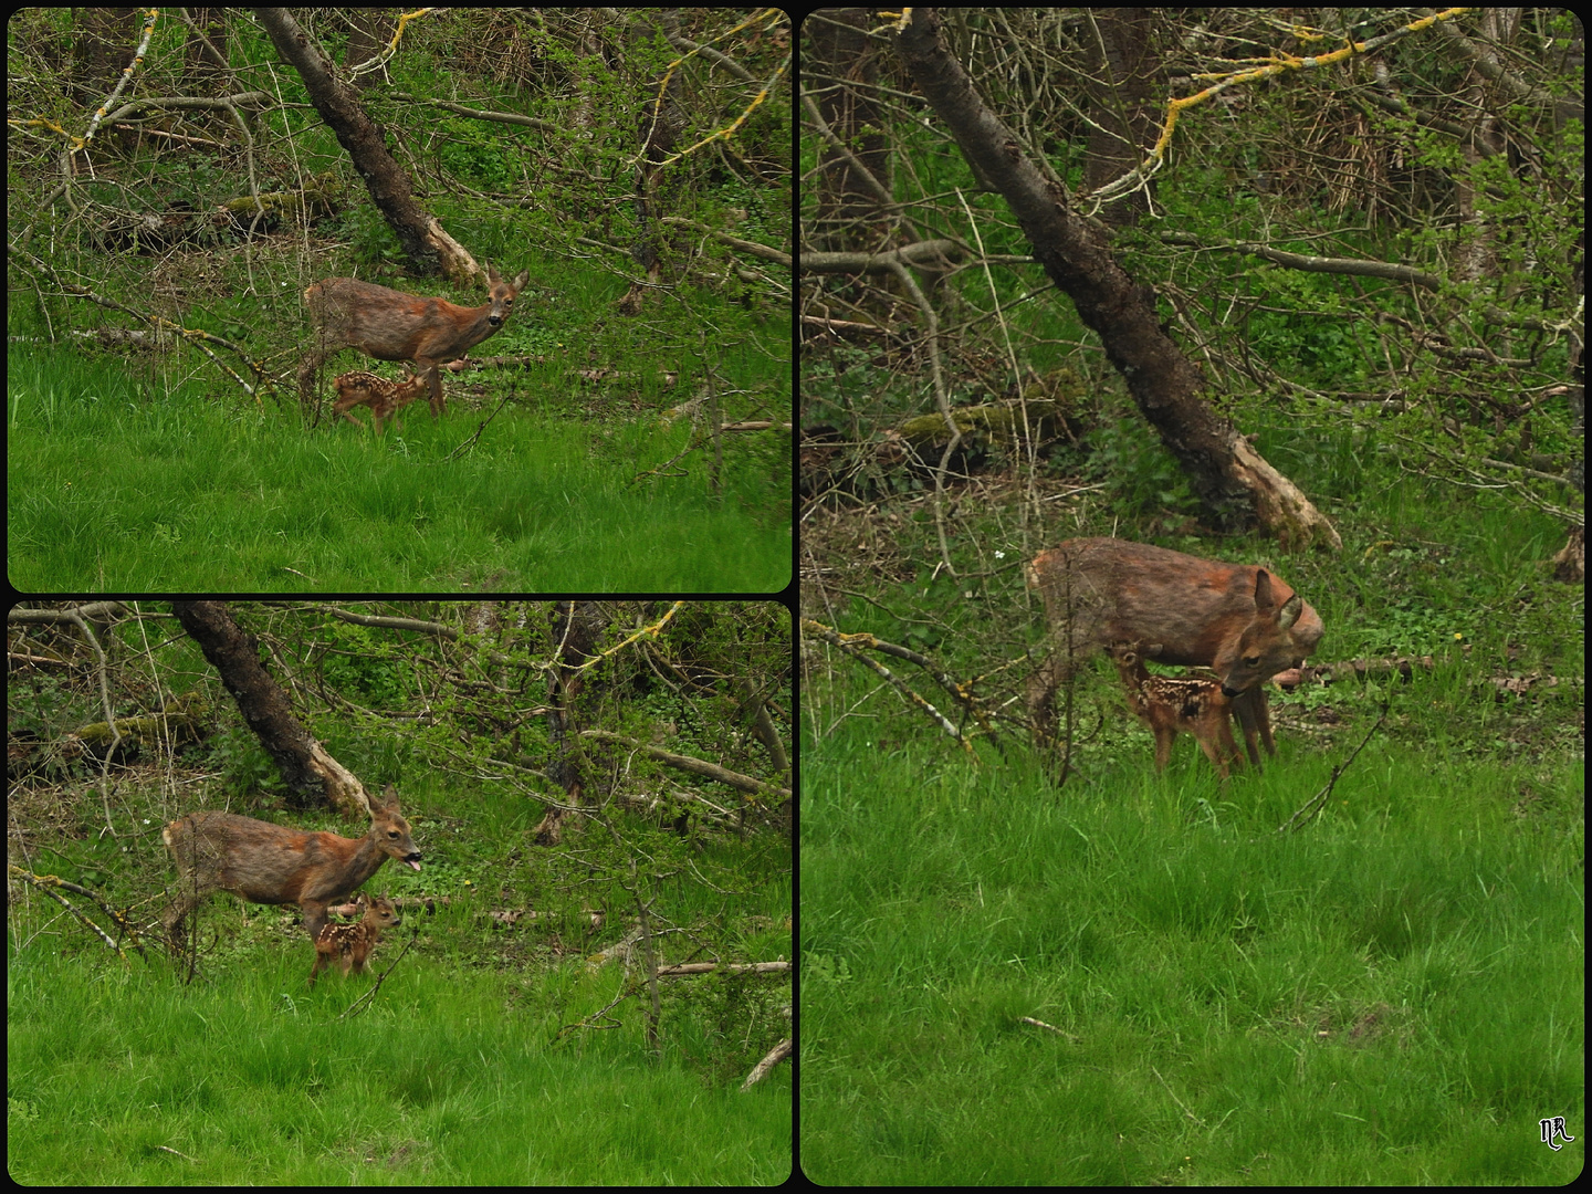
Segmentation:
<svg viewBox="0 0 1592 1194">
<path fill-rule="evenodd" d="M 153 786 L 119 788 L 145 810 L 143 834 L 108 855 L 94 834 L 57 833 L 94 820 L 92 796 L 35 844 L 134 923 L 158 922 L 170 874 L 154 829 L 174 807 L 154 798 Z M 368 885 L 411 898 L 403 925 L 368 974 L 333 968 L 314 990 L 296 909 L 252 907 L 245 923 L 236 899 L 213 896 L 197 977 L 185 982 L 153 944 L 118 957 L 37 888 L 19 890 L 6 966 L 13 1180 L 743 1186 L 790 1175 L 791 1067 L 739 1089 L 790 1030 L 778 1014 L 788 976 L 661 984 L 654 1051 L 648 989 L 622 958 L 595 957 L 632 930 L 624 885 L 637 880 L 664 957 L 790 957 L 786 841 L 686 844 L 616 814 L 546 850 L 530 841 L 540 807 L 490 786 L 414 796 L 404 812 L 425 869 L 388 863 Z M 435 903 L 414 901 L 420 893 Z M 591 907 L 608 912 L 600 927 Z M 489 915 L 508 911 L 521 917 Z M 369 1008 L 345 1019 L 388 968 Z"/>
</svg>

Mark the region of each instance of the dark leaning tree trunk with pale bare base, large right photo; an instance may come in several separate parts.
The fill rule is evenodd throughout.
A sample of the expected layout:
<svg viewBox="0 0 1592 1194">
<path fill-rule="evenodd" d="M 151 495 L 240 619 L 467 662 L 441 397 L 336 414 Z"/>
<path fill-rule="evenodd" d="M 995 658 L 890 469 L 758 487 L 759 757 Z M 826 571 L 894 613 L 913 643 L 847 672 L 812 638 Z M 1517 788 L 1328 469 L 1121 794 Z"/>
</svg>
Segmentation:
<svg viewBox="0 0 1592 1194">
<path fill-rule="evenodd" d="M 1154 290 L 1138 285 L 1116 263 L 1106 231 L 1073 212 L 1067 191 L 1046 181 L 1020 142 L 984 105 L 939 37 L 935 11 L 911 13 L 896 49 L 919 89 L 974 174 L 1006 197 L 1044 272 L 1100 336 L 1106 358 L 1178 458 L 1213 525 L 1237 530 L 1258 521 L 1282 543 L 1321 540 L 1340 548 L 1333 524 L 1204 400 L 1199 373 L 1161 330 Z"/>
</svg>

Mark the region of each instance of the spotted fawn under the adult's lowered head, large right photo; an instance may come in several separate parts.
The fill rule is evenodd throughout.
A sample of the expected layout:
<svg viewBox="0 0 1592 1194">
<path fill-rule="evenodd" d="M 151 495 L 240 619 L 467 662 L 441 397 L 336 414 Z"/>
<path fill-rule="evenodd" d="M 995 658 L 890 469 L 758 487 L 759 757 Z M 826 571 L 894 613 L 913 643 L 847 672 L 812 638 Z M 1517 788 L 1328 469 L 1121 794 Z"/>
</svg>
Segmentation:
<svg viewBox="0 0 1592 1194">
<path fill-rule="evenodd" d="M 1216 774 L 1227 778 L 1229 759 L 1243 764 L 1232 737 L 1232 720 L 1243 729 L 1243 748 L 1256 769 L 1261 766 L 1259 751 L 1254 748 L 1258 734 L 1264 739 L 1266 751 L 1277 753 L 1264 688 L 1250 688 L 1229 697 L 1215 673 L 1151 675 L 1145 667 L 1145 657 L 1154 657 L 1159 645 L 1111 643 L 1105 651 L 1122 678 L 1134 715 L 1156 736 L 1156 771 L 1165 771 L 1172 758 L 1172 743 L 1178 731 L 1183 731 L 1194 736 Z"/>
</svg>

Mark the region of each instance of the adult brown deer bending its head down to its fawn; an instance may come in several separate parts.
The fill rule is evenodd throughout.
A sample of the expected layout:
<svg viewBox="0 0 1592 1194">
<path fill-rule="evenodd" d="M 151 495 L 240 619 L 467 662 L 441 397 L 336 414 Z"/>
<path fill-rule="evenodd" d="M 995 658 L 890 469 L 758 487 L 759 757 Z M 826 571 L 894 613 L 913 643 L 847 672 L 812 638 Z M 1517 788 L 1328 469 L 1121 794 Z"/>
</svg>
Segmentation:
<svg viewBox="0 0 1592 1194">
<path fill-rule="evenodd" d="M 1067 540 L 1027 567 L 1044 597 L 1055 650 L 1028 678 L 1038 740 L 1054 737 L 1055 693 L 1079 659 L 1116 642 L 1156 643 L 1157 662 L 1210 667 L 1227 700 L 1304 662 L 1321 642 L 1321 616 L 1280 576 L 1114 538 Z M 1264 700 L 1261 697 L 1259 700 Z M 1261 729 L 1258 700 L 1240 718 Z M 1270 723 L 1261 731 L 1270 748 Z"/>
</svg>

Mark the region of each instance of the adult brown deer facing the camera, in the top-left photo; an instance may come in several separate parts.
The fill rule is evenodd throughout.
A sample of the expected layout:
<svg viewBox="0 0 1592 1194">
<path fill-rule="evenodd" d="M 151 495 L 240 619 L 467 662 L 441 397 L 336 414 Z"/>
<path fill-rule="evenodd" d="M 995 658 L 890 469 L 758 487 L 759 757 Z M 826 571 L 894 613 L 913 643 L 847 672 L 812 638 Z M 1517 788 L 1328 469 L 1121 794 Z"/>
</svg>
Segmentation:
<svg viewBox="0 0 1592 1194">
<path fill-rule="evenodd" d="M 490 264 L 487 285 L 492 301 L 484 307 L 460 307 L 443 298 L 420 298 L 352 277 L 330 277 L 304 291 L 315 325 L 315 347 L 299 361 L 299 398 L 315 401 L 310 379 L 330 357 L 358 349 L 379 361 L 414 361 L 431 390 L 431 417 L 446 411 L 438 366 L 463 357 L 508 323 L 514 299 L 530 271 L 505 282 Z"/>
</svg>

